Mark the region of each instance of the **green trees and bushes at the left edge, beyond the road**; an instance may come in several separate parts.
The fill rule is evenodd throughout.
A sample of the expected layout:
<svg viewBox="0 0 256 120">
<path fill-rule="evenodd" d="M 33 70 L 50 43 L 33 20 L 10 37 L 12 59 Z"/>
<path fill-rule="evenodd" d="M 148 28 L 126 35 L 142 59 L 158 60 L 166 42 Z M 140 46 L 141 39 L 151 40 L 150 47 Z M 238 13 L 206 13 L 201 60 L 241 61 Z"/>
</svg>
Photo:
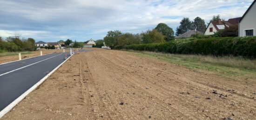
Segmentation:
<svg viewBox="0 0 256 120">
<path fill-rule="evenodd" d="M 0 37 L 0 52 L 14 52 L 14 51 L 35 51 L 36 46 L 33 38 L 20 38 L 20 36 L 7 37 L 6 39 Z"/>
</svg>

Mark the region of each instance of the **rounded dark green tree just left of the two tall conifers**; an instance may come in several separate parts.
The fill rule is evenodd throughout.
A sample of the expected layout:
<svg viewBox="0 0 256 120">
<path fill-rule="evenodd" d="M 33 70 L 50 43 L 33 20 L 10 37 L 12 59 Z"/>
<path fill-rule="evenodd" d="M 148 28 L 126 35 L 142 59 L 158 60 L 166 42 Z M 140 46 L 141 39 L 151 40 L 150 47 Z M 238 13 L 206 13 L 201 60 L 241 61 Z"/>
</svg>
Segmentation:
<svg viewBox="0 0 256 120">
<path fill-rule="evenodd" d="M 170 41 L 171 39 L 174 38 L 174 32 L 173 29 L 170 28 L 168 25 L 164 24 L 164 23 L 159 23 L 155 29 L 157 30 L 157 32 L 161 32 L 165 37 L 164 39 L 166 41 Z"/>
</svg>

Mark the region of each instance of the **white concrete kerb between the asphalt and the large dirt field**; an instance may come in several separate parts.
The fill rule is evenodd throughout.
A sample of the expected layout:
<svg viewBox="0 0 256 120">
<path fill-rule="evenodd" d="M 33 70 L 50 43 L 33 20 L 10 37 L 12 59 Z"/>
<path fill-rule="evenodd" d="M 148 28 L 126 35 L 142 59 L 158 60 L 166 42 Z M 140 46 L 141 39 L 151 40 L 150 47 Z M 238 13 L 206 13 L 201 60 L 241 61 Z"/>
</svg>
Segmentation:
<svg viewBox="0 0 256 120">
<path fill-rule="evenodd" d="M 72 57 L 74 54 L 72 54 L 70 57 Z M 11 104 L 9 104 L 7 107 L 5 107 L 2 111 L 0 111 L 0 118 L 3 117 L 5 114 L 7 114 L 9 111 L 13 109 L 20 101 L 22 101 L 26 96 L 34 91 L 40 84 L 42 84 L 49 76 L 51 76 L 57 69 L 61 67 L 62 64 L 67 62 L 67 60 L 70 58 L 68 57 L 65 61 L 63 61 L 61 64 L 59 64 L 55 69 L 53 69 L 50 73 L 48 73 L 46 76 L 44 76 L 39 82 L 35 83 L 31 88 L 29 88 L 25 93 L 20 95 L 18 98 L 16 98 Z"/>
</svg>

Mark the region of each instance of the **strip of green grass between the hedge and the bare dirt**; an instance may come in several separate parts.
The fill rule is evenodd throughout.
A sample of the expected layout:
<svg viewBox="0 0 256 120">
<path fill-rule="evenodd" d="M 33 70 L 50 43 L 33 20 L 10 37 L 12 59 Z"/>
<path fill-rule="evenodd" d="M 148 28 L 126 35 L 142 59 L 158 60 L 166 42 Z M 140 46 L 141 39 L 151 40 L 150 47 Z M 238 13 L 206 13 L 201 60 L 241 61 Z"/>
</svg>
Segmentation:
<svg viewBox="0 0 256 120">
<path fill-rule="evenodd" d="M 148 51 L 130 51 L 136 56 L 154 57 L 188 69 L 202 69 L 214 74 L 234 79 L 256 80 L 256 60 L 242 57 L 214 57 L 202 55 L 181 55 Z"/>
</svg>

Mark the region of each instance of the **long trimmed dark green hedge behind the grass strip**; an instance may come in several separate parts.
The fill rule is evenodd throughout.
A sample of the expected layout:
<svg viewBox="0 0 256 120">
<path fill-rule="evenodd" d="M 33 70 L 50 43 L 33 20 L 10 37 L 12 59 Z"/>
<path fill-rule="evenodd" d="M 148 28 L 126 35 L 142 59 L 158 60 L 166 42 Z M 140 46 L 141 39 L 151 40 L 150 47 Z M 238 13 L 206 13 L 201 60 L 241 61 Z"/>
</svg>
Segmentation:
<svg viewBox="0 0 256 120">
<path fill-rule="evenodd" d="M 165 43 L 115 46 L 114 49 L 256 58 L 256 37 L 191 38 Z"/>
</svg>

